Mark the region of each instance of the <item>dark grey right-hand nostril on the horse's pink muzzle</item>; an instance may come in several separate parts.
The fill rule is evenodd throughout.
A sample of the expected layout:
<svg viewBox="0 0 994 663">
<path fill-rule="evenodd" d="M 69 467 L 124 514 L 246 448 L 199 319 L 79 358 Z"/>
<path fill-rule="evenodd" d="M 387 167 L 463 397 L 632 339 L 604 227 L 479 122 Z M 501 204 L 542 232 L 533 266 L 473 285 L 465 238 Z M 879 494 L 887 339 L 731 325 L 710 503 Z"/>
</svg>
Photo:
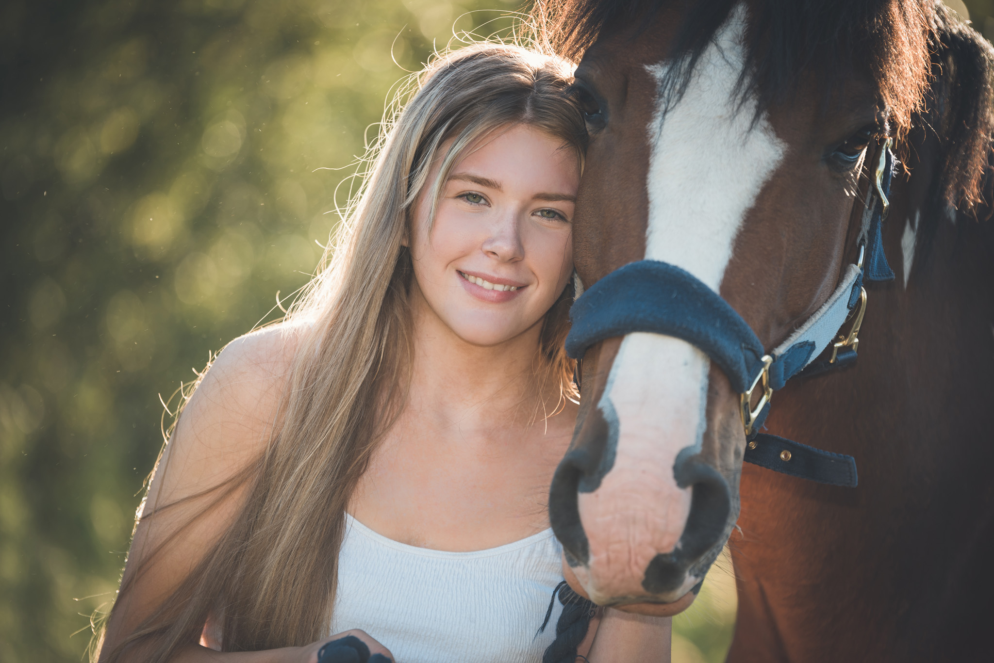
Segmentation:
<svg viewBox="0 0 994 663">
<path fill-rule="evenodd" d="M 654 594 L 680 588 L 690 567 L 718 548 L 732 511 L 732 495 L 725 477 L 699 457 L 681 453 L 673 474 L 681 488 L 693 487 L 690 515 L 673 552 L 657 555 L 645 570 L 642 586 Z"/>
</svg>

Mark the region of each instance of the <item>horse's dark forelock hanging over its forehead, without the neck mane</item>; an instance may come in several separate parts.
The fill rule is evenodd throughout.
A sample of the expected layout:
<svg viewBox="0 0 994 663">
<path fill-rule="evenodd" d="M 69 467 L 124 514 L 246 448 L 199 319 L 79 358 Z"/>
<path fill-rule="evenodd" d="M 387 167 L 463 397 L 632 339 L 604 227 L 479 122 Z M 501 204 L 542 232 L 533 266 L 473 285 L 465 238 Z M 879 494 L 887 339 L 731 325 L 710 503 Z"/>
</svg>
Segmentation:
<svg viewBox="0 0 994 663">
<path fill-rule="evenodd" d="M 579 59 L 597 37 L 636 18 L 641 25 L 678 0 L 537 0 L 533 9 L 543 39 Z M 671 57 L 693 64 L 738 0 L 691 6 Z M 877 83 L 899 129 L 907 129 L 928 77 L 928 38 L 936 15 L 931 0 L 754 0 L 746 45 L 743 91 L 760 107 L 788 97 L 813 73 L 826 91 L 853 70 Z M 689 76 L 689 72 L 686 72 Z M 677 83 L 676 88 L 683 86 Z"/>
</svg>

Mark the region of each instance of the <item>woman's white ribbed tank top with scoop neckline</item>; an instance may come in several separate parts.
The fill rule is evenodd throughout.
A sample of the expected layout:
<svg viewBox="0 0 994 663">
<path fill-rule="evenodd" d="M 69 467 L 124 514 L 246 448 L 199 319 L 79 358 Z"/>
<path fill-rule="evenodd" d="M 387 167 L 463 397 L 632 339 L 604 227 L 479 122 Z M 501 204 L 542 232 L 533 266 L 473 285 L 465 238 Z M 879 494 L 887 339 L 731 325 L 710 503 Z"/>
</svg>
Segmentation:
<svg viewBox="0 0 994 663">
<path fill-rule="evenodd" d="M 397 663 L 539 663 L 556 638 L 562 548 L 551 529 L 472 553 L 417 548 L 346 514 L 330 634 L 361 628 Z"/>
</svg>

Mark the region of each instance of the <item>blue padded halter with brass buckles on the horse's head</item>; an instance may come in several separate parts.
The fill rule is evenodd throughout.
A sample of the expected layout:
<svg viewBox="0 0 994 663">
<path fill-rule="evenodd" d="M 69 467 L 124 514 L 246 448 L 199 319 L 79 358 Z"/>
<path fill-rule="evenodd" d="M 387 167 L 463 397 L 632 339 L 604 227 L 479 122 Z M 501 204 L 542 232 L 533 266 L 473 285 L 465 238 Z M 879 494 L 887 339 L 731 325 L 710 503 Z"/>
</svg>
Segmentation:
<svg viewBox="0 0 994 663">
<path fill-rule="evenodd" d="M 828 300 L 768 354 L 748 323 L 721 295 L 690 272 L 659 260 L 630 262 L 580 295 L 570 309 L 573 327 L 566 340 L 567 353 L 581 359 L 590 346 L 632 332 L 687 341 L 718 364 L 741 395 L 746 462 L 819 483 L 855 487 L 858 479 L 852 456 L 759 430 L 769 414 L 773 392 L 788 380 L 844 369 L 856 362 L 867 304 L 863 281 L 894 278 L 881 233 L 890 208 L 888 197 L 896 163 L 891 144 L 887 138 L 880 148 L 862 216 L 857 262 L 843 269 Z M 842 334 L 847 320 L 852 320 L 852 326 Z M 815 362 L 830 343 L 831 357 Z M 753 407 L 758 389 L 761 395 Z"/>
</svg>

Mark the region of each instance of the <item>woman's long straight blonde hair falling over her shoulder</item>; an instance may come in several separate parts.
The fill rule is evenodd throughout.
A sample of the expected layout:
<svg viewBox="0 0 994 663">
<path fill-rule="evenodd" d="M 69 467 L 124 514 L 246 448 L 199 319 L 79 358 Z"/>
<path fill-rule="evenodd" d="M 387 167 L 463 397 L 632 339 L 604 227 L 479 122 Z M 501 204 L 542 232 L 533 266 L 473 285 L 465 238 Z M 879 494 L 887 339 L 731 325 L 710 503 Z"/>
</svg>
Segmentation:
<svg viewBox="0 0 994 663">
<path fill-rule="evenodd" d="M 198 640 L 209 616 L 226 651 L 300 646 L 327 635 L 345 510 L 407 394 L 412 266 L 402 243 L 414 202 L 424 193 L 436 204 L 464 150 L 503 126 L 533 126 L 581 160 L 586 133 L 568 94 L 572 71 L 553 56 L 476 44 L 438 57 L 411 81 L 407 104 L 399 97 L 388 109 L 362 187 L 288 314 L 301 336 L 272 439 L 216 496 L 214 503 L 248 483 L 241 513 L 104 660 L 137 646 L 147 660 L 167 661 Z M 440 172 L 429 182 L 436 160 Z M 572 389 L 574 365 L 563 350 L 571 294 L 568 286 L 546 315 L 537 358 L 537 373 L 556 381 L 561 395 Z M 125 579 L 119 595 L 130 585 Z"/>
</svg>

